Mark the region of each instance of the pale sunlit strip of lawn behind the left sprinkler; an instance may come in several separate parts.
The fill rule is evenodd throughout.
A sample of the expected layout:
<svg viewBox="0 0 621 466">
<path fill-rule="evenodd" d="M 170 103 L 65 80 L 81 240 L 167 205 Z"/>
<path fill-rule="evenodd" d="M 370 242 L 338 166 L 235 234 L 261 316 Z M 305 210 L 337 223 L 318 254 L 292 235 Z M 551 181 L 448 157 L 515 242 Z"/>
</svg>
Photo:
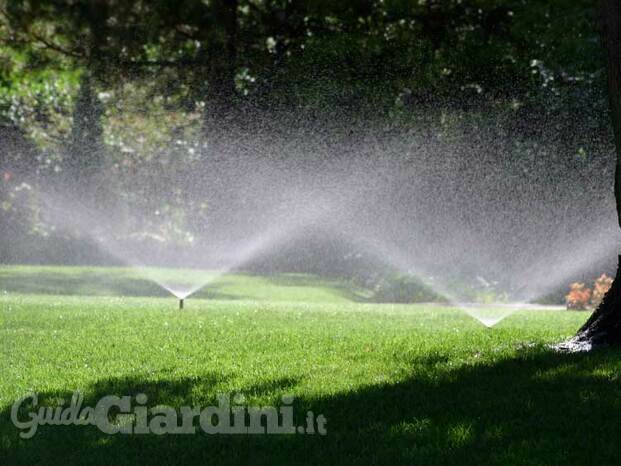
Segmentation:
<svg viewBox="0 0 621 466">
<path fill-rule="evenodd" d="M 145 272 L 146 271 L 146 272 Z M 0 265 L 0 291 L 86 296 L 170 296 L 153 278 L 192 276 L 184 269 L 140 269 L 130 267 L 58 267 Z M 270 302 L 357 302 L 371 291 L 353 283 L 309 274 L 212 274 L 202 272 L 209 283 L 193 297 Z M 200 283 L 200 280 L 197 281 Z"/>
</svg>

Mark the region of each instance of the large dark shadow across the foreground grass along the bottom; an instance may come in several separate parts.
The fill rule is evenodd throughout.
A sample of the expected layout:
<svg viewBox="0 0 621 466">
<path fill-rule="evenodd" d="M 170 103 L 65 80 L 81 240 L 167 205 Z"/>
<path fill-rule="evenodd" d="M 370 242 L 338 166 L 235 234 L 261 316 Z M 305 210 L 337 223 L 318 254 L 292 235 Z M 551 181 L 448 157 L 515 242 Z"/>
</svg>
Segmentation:
<svg viewBox="0 0 621 466">
<path fill-rule="evenodd" d="M 95 427 L 44 427 L 19 440 L 2 412 L 3 464 L 617 464 L 621 454 L 621 353 L 559 355 L 529 350 L 495 363 L 451 368 L 445 355 L 412 361 L 401 383 L 321 398 L 298 397 L 328 419 L 328 434 L 109 436 Z M 150 394 L 180 406 L 214 401 L 218 378 L 103 380 L 87 393 Z M 239 387 L 274 400 L 295 391 L 283 379 Z M 58 396 L 43 394 L 44 398 Z M 64 394 L 66 397 L 68 394 Z M 203 405 L 204 406 L 204 405 Z"/>
</svg>

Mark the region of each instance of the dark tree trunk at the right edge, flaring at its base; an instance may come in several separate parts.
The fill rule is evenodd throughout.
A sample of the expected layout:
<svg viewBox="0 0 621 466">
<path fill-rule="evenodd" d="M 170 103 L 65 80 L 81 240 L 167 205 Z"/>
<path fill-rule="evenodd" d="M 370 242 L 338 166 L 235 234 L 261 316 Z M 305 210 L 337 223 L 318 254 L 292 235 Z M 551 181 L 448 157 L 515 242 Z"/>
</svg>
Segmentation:
<svg viewBox="0 0 621 466">
<path fill-rule="evenodd" d="M 615 200 L 621 227 L 621 3 L 603 0 L 601 9 L 602 39 L 606 50 L 610 116 L 614 131 L 617 163 Z M 602 303 L 565 349 L 590 349 L 593 346 L 621 343 L 621 256 L 617 275 Z"/>
</svg>

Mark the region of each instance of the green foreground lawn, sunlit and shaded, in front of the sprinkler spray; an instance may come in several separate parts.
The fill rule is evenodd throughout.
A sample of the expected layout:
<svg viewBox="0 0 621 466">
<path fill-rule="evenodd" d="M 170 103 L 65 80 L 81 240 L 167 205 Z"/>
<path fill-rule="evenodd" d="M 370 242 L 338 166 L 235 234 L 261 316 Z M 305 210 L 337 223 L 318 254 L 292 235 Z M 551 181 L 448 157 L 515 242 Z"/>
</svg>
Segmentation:
<svg viewBox="0 0 621 466">
<path fill-rule="evenodd" d="M 458 309 L 361 304 L 328 284 L 308 302 L 279 285 L 281 302 L 245 290 L 179 311 L 174 298 L 33 294 L 3 280 L 2 465 L 584 465 L 621 454 L 621 353 L 546 346 L 585 313 L 521 311 L 487 329 Z M 279 406 L 293 395 L 296 423 L 324 414 L 327 435 L 43 426 L 19 438 L 16 399 L 35 392 L 53 405 L 75 390 L 86 405 L 145 393 L 150 407 L 206 407 L 219 393 Z"/>
</svg>

